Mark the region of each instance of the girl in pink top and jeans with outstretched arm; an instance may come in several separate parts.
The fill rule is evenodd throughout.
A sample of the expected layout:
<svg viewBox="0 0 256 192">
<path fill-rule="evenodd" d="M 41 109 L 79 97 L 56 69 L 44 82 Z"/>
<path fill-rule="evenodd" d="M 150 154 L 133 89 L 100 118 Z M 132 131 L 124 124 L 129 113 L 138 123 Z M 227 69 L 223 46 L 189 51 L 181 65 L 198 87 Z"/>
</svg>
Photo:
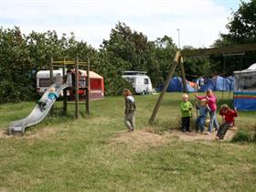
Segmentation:
<svg viewBox="0 0 256 192">
<path fill-rule="evenodd" d="M 213 92 L 209 89 L 207 90 L 206 94 L 207 94 L 206 96 L 198 96 L 197 94 L 195 96 L 198 100 L 206 99 L 208 101 L 208 107 L 210 109 L 210 112 L 209 112 L 210 119 L 209 119 L 207 134 L 210 134 L 211 132 L 213 132 L 213 130 L 212 130 L 213 126 L 215 127 L 215 131 L 219 130 L 219 124 L 218 124 L 217 118 L 216 118 L 217 98 L 215 97 Z"/>
</svg>

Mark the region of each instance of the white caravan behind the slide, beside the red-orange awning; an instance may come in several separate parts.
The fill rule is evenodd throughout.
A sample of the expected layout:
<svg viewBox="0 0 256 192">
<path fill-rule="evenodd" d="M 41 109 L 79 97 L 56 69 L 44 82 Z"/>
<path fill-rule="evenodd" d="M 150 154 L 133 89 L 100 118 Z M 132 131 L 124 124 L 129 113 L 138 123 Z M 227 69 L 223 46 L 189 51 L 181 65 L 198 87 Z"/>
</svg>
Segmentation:
<svg viewBox="0 0 256 192">
<path fill-rule="evenodd" d="M 56 81 L 56 78 L 60 76 L 60 80 L 63 81 L 63 71 L 62 70 L 53 70 L 53 81 Z M 48 90 L 48 87 L 51 85 L 49 70 L 39 70 L 37 72 L 37 93 L 43 95 L 45 91 Z"/>
</svg>

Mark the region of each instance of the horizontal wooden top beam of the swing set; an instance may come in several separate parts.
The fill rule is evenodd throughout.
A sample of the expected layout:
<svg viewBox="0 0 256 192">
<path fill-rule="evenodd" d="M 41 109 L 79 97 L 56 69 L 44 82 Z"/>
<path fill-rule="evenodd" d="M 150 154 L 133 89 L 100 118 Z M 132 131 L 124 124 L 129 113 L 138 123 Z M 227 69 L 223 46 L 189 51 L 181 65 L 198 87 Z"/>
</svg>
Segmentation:
<svg viewBox="0 0 256 192">
<path fill-rule="evenodd" d="M 241 44 L 222 48 L 199 48 L 181 51 L 181 57 L 197 57 L 207 55 L 231 54 L 256 50 L 256 44 Z"/>
</svg>

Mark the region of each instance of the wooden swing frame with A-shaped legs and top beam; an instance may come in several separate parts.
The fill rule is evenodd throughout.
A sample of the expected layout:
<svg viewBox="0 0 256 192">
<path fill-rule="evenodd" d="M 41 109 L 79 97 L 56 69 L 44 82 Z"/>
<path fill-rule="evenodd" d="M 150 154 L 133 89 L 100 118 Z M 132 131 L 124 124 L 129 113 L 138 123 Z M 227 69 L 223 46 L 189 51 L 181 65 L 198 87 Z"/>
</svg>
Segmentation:
<svg viewBox="0 0 256 192">
<path fill-rule="evenodd" d="M 169 80 L 171 80 L 171 78 L 173 77 L 177 65 L 181 67 L 183 87 L 184 87 L 184 91 L 187 92 L 187 82 L 185 77 L 186 72 L 183 65 L 183 58 L 219 55 L 219 54 L 232 54 L 232 53 L 240 53 L 240 52 L 253 51 L 253 50 L 256 50 L 256 44 L 243 44 L 243 45 L 234 45 L 234 46 L 223 47 L 223 48 L 199 48 L 194 50 L 177 51 L 176 57 L 171 63 L 171 69 L 165 80 L 164 87 L 160 93 L 158 100 L 155 103 L 155 108 L 149 119 L 149 123 L 153 123 L 155 120 L 156 113 L 158 112 L 160 104 L 163 101 L 165 91 L 167 90 Z"/>
</svg>

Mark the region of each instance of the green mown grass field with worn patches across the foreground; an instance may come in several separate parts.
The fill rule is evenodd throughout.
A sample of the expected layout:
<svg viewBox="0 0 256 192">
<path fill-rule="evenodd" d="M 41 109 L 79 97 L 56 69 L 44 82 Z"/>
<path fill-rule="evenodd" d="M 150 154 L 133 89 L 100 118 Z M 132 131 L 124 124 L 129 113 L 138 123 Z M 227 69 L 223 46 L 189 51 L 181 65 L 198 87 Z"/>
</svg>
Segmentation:
<svg viewBox="0 0 256 192">
<path fill-rule="evenodd" d="M 183 141 L 168 133 L 178 127 L 181 93 L 165 94 L 150 126 L 157 98 L 135 96 L 134 133 L 123 124 L 123 97 L 92 101 L 91 114 L 79 120 L 69 105 L 68 116 L 56 111 L 24 136 L 5 131 L 35 103 L 0 105 L 0 191 L 255 191 L 255 144 Z M 255 116 L 240 112 L 236 125 L 253 130 Z"/>
</svg>

